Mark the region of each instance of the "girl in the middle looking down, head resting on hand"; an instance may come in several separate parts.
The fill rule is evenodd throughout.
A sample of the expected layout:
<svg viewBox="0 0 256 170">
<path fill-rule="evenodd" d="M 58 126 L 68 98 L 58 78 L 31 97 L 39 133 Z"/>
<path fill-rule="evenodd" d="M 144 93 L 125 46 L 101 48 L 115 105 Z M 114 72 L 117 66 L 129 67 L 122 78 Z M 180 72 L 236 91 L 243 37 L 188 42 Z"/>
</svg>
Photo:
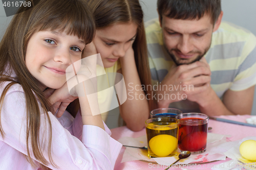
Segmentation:
<svg viewBox="0 0 256 170">
<path fill-rule="evenodd" d="M 139 1 L 87 2 L 96 20 L 96 36 L 84 54 L 100 53 L 107 73 L 120 72 L 123 75 L 127 100 L 119 107 L 120 115 L 128 128 L 139 131 L 154 108 L 143 12 Z"/>
</svg>

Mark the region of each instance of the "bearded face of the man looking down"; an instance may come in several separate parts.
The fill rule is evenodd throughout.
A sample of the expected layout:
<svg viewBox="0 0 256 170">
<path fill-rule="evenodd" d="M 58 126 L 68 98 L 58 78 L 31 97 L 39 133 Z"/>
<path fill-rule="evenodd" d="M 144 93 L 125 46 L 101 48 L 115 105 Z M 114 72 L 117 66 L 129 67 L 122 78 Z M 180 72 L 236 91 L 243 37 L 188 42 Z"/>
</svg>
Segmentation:
<svg viewBox="0 0 256 170">
<path fill-rule="evenodd" d="M 163 15 L 161 27 L 164 46 L 177 65 L 199 61 L 209 50 L 214 25 L 207 14 L 199 20 Z"/>
</svg>

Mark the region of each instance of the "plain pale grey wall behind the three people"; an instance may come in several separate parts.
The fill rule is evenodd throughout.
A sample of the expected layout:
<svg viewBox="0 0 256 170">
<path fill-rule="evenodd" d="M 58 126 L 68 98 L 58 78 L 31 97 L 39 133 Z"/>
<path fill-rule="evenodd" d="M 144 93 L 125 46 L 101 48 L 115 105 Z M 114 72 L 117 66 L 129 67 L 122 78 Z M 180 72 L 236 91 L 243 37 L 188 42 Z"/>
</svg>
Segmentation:
<svg viewBox="0 0 256 170">
<path fill-rule="evenodd" d="M 158 17 L 157 0 L 140 0 L 145 13 L 144 20 Z M 233 22 L 250 30 L 256 35 L 256 0 L 222 0 L 223 20 Z M 9 24 L 11 17 L 6 17 L 2 1 L 0 2 L 0 39 Z M 256 95 L 256 90 L 255 90 Z M 254 100 L 252 114 L 256 115 L 256 99 Z M 116 109 L 117 110 L 117 109 Z"/>
</svg>

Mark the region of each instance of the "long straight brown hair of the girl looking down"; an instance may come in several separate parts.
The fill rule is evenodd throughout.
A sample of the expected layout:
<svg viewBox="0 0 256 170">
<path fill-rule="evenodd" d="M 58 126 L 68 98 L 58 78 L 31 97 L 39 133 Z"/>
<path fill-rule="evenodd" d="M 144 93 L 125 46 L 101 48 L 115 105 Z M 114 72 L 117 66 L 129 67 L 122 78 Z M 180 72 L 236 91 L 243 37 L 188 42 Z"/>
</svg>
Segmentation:
<svg viewBox="0 0 256 170">
<path fill-rule="evenodd" d="M 143 11 L 139 0 L 86 0 L 93 11 L 96 29 L 103 29 L 116 23 L 133 21 L 138 25 L 137 36 L 133 43 L 134 57 L 140 82 L 145 85 L 144 93 L 148 94 L 150 109 L 156 107 L 152 99 L 150 67 L 147 58 L 146 35 L 143 22 Z"/>
</svg>

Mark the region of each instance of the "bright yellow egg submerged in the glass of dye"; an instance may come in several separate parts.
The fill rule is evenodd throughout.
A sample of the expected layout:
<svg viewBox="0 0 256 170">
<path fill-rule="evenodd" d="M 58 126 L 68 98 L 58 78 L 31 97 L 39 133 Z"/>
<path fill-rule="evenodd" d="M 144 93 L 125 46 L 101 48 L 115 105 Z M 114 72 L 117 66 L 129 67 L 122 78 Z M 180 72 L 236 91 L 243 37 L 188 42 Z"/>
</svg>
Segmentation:
<svg viewBox="0 0 256 170">
<path fill-rule="evenodd" d="M 148 144 L 154 154 L 165 157 L 177 148 L 178 139 L 172 135 L 157 135 Z"/>
</svg>

